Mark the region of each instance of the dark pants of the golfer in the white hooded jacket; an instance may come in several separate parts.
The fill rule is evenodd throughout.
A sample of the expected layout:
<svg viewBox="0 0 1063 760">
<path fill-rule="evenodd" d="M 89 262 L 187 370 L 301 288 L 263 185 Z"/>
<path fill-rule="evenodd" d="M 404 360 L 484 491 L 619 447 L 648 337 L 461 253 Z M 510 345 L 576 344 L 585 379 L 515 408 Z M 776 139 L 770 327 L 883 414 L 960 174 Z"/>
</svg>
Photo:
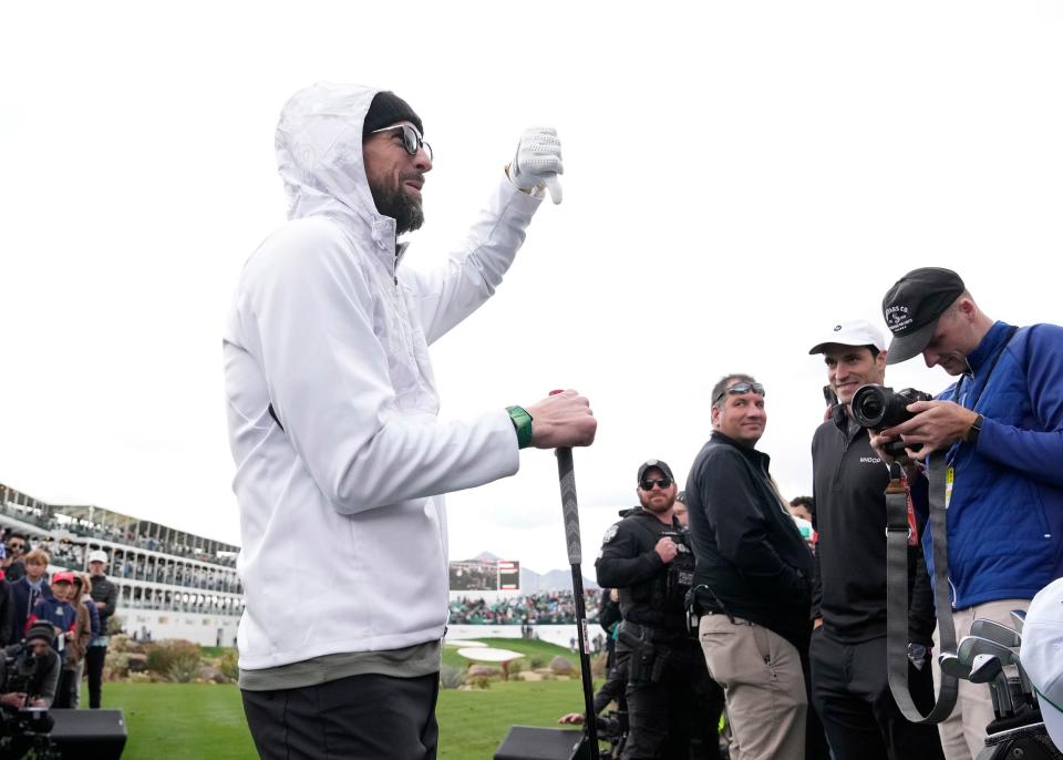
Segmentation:
<svg viewBox="0 0 1063 760">
<path fill-rule="evenodd" d="M 368 674 L 241 695 L 255 747 L 266 760 L 435 760 L 438 687 L 438 674 Z"/>
</svg>

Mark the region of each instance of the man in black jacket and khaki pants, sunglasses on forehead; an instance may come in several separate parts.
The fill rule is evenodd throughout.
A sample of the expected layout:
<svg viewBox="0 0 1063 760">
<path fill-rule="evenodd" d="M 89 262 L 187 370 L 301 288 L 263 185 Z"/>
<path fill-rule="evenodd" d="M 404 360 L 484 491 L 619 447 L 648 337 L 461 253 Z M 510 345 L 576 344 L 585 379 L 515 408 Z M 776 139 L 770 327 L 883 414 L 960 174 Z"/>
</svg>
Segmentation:
<svg viewBox="0 0 1063 760">
<path fill-rule="evenodd" d="M 805 757 L 812 553 L 754 449 L 766 422 L 764 387 L 722 378 L 712 437 L 687 481 L 699 635 L 741 760 Z"/>
</svg>

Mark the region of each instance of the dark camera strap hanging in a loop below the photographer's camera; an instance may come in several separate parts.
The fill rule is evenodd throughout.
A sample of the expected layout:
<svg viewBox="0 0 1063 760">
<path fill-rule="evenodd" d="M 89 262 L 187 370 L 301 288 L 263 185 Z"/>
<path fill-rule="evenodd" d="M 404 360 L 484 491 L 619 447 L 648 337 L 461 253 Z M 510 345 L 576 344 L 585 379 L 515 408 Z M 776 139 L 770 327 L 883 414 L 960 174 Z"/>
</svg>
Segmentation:
<svg viewBox="0 0 1063 760">
<path fill-rule="evenodd" d="M 914 723 L 940 723 L 956 707 L 958 681 L 941 674 L 937 699 L 923 715 L 911 698 L 908 685 L 908 483 L 897 462 L 890 466 L 886 487 L 886 668 L 889 690 L 905 718 Z M 931 464 L 930 530 L 933 537 L 933 606 L 938 615 L 938 645 L 941 651 L 956 651 L 956 626 L 949 598 L 948 526 L 945 506 L 945 463 Z"/>
</svg>

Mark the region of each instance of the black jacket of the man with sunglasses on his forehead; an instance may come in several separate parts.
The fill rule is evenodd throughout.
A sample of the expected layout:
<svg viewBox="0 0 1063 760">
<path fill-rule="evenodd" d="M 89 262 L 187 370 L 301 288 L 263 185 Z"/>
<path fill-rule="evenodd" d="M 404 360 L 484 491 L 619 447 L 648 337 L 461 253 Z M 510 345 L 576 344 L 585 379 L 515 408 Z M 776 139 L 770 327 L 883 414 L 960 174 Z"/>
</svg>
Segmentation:
<svg viewBox="0 0 1063 760">
<path fill-rule="evenodd" d="M 812 552 L 771 483 L 770 462 L 719 431 L 694 460 L 687 504 L 695 594 L 702 610 L 764 626 L 805 650 Z"/>
</svg>

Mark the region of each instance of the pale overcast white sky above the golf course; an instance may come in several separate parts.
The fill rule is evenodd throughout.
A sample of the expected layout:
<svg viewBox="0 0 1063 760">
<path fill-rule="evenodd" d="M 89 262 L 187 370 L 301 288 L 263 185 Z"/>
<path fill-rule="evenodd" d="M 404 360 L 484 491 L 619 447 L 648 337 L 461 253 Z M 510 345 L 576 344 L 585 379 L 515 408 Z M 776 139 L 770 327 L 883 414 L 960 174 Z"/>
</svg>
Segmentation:
<svg viewBox="0 0 1063 760">
<path fill-rule="evenodd" d="M 403 266 L 457 243 L 526 126 L 558 129 L 564 204 L 433 357 L 444 418 L 590 398 L 585 572 L 641 461 L 685 480 L 725 372 L 767 387 L 760 448 L 808 492 L 807 350 L 881 325 L 909 269 L 957 269 L 992 317 L 1061 321 L 1060 3 L 364 6 L 4 7 L 0 482 L 239 541 L 220 336 L 285 220 L 280 107 L 318 80 L 394 90 L 424 121 L 436 162 Z M 918 359 L 887 381 L 947 383 Z M 567 565 L 549 452 L 448 512 L 452 558 Z"/>
</svg>

